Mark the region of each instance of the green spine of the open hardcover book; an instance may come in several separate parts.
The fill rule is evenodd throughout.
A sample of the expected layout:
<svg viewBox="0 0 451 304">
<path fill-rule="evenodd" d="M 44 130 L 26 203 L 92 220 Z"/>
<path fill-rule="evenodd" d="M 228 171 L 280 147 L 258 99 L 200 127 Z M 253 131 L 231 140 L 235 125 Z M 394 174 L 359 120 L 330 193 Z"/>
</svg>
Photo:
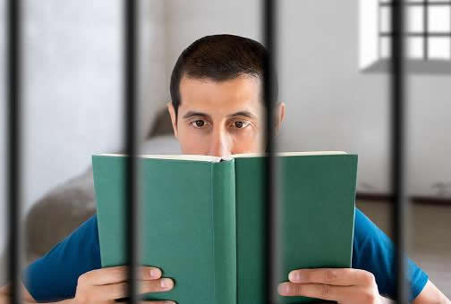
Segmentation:
<svg viewBox="0 0 451 304">
<path fill-rule="evenodd" d="M 234 160 L 211 166 L 215 303 L 236 303 Z"/>
</svg>

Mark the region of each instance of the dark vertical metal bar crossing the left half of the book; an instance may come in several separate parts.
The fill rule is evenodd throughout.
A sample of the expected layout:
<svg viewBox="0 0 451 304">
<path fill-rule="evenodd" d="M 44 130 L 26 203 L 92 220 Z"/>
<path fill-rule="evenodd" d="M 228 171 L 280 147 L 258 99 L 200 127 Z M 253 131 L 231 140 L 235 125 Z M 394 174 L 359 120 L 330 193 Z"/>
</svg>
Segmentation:
<svg viewBox="0 0 451 304">
<path fill-rule="evenodd" d="M 127 227 L 127 262 L 129 280 L 129 303 L 138 303 L 137 267 L 138 267 L 138 201 L 137 201 L 137 16 L 136 0 L 123 0 L 124 4 L 124 136 L 127 163 L 125 170 L 125 221 Z"/>
</svg>

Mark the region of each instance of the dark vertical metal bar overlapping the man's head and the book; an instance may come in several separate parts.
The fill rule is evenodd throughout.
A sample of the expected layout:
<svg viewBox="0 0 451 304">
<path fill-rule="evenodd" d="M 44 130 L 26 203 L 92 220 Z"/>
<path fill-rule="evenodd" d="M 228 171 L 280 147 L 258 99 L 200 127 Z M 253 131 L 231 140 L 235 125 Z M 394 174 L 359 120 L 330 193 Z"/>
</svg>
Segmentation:
<svg viewBox="0 0 451 304">
<path fill-rule="evenodd" d="M 265 291 L 268 303 L 277 303 L 277 179 L 275 139 L 274 139 L 274 106 L 275 106 L 275 66 L 276 66 L 276 25 L 277 25 L 277 3 L 274 0 L 263 2 L 263 33 L 264 44 L 268 49 L 265 59 L 265 71 L 263 79 L 263 92 L 266 105 L 265 136 L 268 156 L 265 157 L 265 187 L 264 198 L 266 203 L 266 226 L 267 241 L 266 252 L 266 277 Z"/>
</svg>

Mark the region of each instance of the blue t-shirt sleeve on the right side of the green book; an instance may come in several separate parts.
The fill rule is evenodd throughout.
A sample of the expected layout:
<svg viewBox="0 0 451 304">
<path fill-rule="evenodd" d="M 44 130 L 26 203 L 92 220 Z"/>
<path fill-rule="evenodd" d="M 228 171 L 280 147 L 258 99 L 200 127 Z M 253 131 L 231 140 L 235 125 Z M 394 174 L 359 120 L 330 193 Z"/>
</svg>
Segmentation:
<svg viewBox="0 0 451 304">
<path fill-rule="evenodd" d="M 355 209 L 353 268 L 374 274 L 379 293 L 394 298 L 396 294 L 395 251 L 393 242 L 376 224 Z M 428 283 L 429 277 L 413 261 L 407 259 L 410 300 L 415 299 Z"/>
</svg>

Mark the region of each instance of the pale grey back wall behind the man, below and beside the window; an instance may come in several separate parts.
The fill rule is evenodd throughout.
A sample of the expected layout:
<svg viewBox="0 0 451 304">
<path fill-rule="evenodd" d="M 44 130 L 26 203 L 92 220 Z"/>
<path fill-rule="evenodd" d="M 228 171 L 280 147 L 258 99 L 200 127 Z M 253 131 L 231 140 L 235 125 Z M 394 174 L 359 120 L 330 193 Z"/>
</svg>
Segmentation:
<svg viewBox="0 0 451 304">
<path fill-rule="evenodd" d="M 166 1 L 166 70 L 184 47 L 211 33 L 261 38 L 259 1 Z M 387 74 L 358 71 L 358 1 L 284 0 L 279 11 L 280 149 L 359 154 L 358 190 L 389 191 Z M 449 76 L 413 76 L 408 163 L 413 194 L 451 182 Z"/>
</svg>

